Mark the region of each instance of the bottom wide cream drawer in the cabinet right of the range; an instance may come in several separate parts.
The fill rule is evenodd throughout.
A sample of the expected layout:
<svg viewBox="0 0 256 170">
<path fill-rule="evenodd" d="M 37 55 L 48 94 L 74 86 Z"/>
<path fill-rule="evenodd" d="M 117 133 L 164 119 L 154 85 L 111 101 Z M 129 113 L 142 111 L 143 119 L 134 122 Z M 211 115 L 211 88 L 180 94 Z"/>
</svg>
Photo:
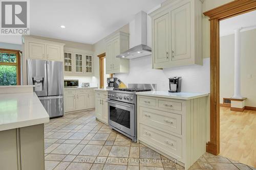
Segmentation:
<svg viewBox="0 0 256 170">
<path fill-rule="evenodd" d="M 176 159 L 182 158 L 182 138 L 140 124 L 139 140 Z"/>
</svg>

